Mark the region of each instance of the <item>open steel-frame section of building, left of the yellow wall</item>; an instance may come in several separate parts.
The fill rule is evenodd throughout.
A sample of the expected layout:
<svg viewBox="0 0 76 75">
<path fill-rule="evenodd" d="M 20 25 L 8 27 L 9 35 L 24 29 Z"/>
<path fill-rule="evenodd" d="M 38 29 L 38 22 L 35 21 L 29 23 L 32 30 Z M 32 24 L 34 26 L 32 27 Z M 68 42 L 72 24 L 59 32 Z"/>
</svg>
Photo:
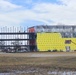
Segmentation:
<svg viewBox="0 0 76 75">
<path fill-rule="evenodd" d="M 3 27 L 0 29 L 0 50 L 3 52 L 29 52 L 33 51 L 35 33 L 29 33 L 22 27 Z"/>
</svg>

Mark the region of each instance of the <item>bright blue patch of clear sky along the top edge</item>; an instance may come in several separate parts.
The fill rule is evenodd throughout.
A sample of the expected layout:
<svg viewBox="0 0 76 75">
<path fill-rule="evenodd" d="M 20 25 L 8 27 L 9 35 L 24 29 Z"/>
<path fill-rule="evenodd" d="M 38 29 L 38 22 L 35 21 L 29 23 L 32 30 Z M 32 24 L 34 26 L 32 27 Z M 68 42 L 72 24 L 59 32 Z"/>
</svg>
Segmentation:
<svg viewBox="0 0 76 75">
<path fill-rule="evenodd" d="M 31 9 L 34 3 L 56 3 L 56 4 L 61 3 L 58 0 L 11 0 L 10 2 L 17 5 L 22 5 L 28 9 Z"/>
</svg>

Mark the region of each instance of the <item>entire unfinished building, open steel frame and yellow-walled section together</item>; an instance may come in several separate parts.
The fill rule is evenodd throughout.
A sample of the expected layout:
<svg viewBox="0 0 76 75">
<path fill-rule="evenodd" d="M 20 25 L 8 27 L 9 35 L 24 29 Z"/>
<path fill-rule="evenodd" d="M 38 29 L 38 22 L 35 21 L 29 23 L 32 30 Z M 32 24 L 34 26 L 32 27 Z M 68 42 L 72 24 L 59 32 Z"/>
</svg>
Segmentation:
<svg viewBox="0 0 76 75">
<path fill-rule="evenodd" d="M 1 28 L 0 50 L 5 52 L 76 51 L 76 26 Z"/>
</svg>

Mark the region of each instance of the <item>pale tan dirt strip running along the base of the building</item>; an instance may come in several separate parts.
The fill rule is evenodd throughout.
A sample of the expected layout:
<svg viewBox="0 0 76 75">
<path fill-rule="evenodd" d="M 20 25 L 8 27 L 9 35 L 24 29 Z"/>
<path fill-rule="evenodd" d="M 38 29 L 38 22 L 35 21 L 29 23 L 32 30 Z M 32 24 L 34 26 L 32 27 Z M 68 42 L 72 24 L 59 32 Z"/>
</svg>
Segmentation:
<svg viewBox="0 0 76 75">
<path fill-rule="evenodd" d="M 29 52 L 29 53 L 0 53 L 0 56 L 8 57 L 60 57 L 76 56 L 76 52 Z"/>
</svg>

